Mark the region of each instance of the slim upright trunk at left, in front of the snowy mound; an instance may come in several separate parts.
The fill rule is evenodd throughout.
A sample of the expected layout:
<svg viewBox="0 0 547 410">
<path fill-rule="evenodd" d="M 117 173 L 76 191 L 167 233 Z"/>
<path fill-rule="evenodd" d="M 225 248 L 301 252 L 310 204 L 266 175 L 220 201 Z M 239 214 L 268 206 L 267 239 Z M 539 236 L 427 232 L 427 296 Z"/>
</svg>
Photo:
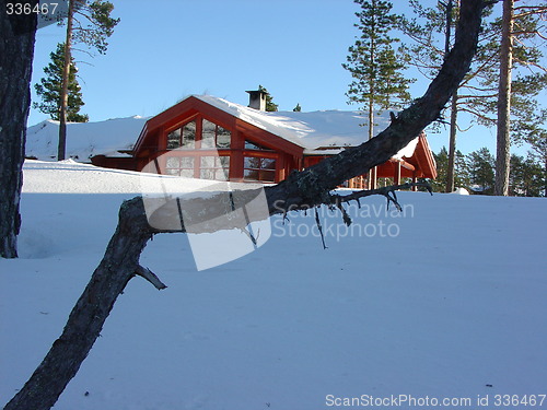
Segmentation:
<svg viewBox="0 0 547 410">
<path fill-rule="evenodd" d="M 72 47 L 72 21 L 74 19 L 74 1 L 69 0 L 67 15 L 67 38 L 65 39 L 65 62 L 62 65 L 62 81 L 59 102 L 59 145 L 57 148 L 57 161 L 62 161 L 67 153 L 67 109 L 68 109 L 68 83 L 70 75 L 70 60 Z"/>
</svg>

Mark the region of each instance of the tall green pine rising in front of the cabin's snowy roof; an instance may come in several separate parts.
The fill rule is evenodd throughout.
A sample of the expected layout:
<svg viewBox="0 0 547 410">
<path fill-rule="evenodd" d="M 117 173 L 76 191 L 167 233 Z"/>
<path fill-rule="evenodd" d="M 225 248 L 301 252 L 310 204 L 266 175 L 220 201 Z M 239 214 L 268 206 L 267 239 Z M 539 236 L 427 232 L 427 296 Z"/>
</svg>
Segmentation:
<svg viewBox="0 0 547 410">
<path fill-rule="evenodd" d="M 369 139 L 374 136 L 374 112 L 399 106 L 408 101 L 408 84 L 401 71 L 405 61 L 396 54 L 393 44 L 397 38 L 389 32 L 397 26 L 399 16 L 392 14 L 392 3 L 384 0 L 354 0 L 361 11 L 354 24 L 361 32 L 353 46 L 349 47 L 347 62 L 342 67 L 351 73 L 347 96 L 350 103 L 363 104 L 368 114 Z M 375 172 L 369 175 L 370 188 L 375 188 Z"/>
</svg>

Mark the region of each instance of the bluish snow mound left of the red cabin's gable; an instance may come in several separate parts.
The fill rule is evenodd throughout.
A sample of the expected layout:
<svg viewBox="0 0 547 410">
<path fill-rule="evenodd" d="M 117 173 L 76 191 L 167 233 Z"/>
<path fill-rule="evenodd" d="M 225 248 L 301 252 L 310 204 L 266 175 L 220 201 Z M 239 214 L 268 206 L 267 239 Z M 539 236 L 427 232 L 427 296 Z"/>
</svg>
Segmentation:
<svg viewBox="0 0 547 410">
<path fill-rule="evenodd" d="M 148 118 L 135 116 L 97 122 L 67 124 L 67 157 L 82 162 L 94 155 L 124 156 L 131 150 Z M 57 159 L 59 121 L 47 119 L 26 130 L 25 155 L 43 161 Z"/>
</svg>

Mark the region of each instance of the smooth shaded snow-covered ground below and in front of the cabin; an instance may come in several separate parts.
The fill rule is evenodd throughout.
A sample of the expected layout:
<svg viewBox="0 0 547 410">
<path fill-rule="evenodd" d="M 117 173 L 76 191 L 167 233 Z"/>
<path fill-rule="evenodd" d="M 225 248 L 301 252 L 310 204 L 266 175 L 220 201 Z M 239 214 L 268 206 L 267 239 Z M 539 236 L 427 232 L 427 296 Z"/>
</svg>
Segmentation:
<svg viewBox="0 0 547 410">
<path fill-rule="evenodd" d="M 0 406 L 140 189 L 136 173 L 70 161 L 28 161 L 24 177 L 21 258 L 0 260 Z M 184 235 L 156 235 L 141 261 L 168 288 L 129 283 L 55 409 L 494 409 L 497 395 L 547 409 L 545 199 L 399 199 L 401 214 L 351 207 L 352 231 L 322 211 L 326 250 L 312 215 L 274 218 L 261 248 L 200 272 Z M 374 401 L 392 395 L 415 401 Z"/>
</svg>

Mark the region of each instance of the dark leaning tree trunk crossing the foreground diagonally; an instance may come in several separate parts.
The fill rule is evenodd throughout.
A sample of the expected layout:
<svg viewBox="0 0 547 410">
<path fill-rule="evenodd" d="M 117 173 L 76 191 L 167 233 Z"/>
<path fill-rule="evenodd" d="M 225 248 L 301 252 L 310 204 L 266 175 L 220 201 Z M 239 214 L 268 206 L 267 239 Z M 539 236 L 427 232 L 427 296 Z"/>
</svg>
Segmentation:
<svg viewBox="0 0 547 410">
<path fill-rule="evenodd" d="M 469 68 L 482 7 L 481 1 L 462 1 L 454 49 L 421 98 L 401 112 L 376 138 L 265 188 L 269 213 L 333 203 L 334 197 L 329 194 L 333 188 L 387 161 L 434 121 Z M 377 194 L 382 194 L 381 189 Z M 211 216 L 223 212 L 214 209 L 216 202 L 210 202 L 210 198 L 193 200 L 202 201 L 200 209 Z M 220 208 L 224 209 L 225 204 Z M 177 206 L 165 212 L 177 215 Z M 184 224 L 181 225 L 184 231 Z M 146 277 L 158 289 L 163 286 L 150 271 L 139 267 L 140 253 L 155 233 L 160 231 L 149 226 L 141 197 L 123 203 L 118 226 L 105 256 L 73 307 L 62 335 L 4 410 L 47 410 L 56 402 L 98 337 L 117 296 L 135 274 Z"/>
</svg>

